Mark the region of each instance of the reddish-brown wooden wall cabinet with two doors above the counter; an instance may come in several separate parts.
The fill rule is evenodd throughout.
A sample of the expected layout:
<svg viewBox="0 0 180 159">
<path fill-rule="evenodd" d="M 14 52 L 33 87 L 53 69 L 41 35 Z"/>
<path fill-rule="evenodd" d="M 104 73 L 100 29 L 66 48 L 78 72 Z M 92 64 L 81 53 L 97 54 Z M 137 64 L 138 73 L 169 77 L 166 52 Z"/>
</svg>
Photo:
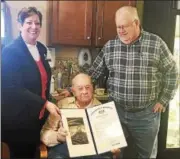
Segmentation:
<svg viewBox="0 0 180 159">
<path fill-rule="evenodd" d="M 101 47 L 116 36 L 115 12 L 136 1 L 49 1 L 49 44 Z"/>
</svg>

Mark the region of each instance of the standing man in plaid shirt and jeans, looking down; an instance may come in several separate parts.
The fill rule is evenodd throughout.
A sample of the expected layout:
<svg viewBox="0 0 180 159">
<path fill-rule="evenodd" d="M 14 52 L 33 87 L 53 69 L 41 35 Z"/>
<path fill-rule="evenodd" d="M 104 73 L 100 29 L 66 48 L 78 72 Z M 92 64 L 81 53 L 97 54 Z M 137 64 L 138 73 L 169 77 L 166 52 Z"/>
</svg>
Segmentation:
<svg viewBox="0 0 180 159">
<path fill-rule="evenodd" d="M 136 8 L 120 8 L 115 22 L 118 37 L 105 44 L 89 74 L 98 79 L 109 70 L 110 100 L 116 103 L 125 133 L 133 138 L 135 157 L 156 157 L 152 151 L 160 115 L 177 88 L 176 64 L 165 42 L 141 29 Z"/>
</svg>

